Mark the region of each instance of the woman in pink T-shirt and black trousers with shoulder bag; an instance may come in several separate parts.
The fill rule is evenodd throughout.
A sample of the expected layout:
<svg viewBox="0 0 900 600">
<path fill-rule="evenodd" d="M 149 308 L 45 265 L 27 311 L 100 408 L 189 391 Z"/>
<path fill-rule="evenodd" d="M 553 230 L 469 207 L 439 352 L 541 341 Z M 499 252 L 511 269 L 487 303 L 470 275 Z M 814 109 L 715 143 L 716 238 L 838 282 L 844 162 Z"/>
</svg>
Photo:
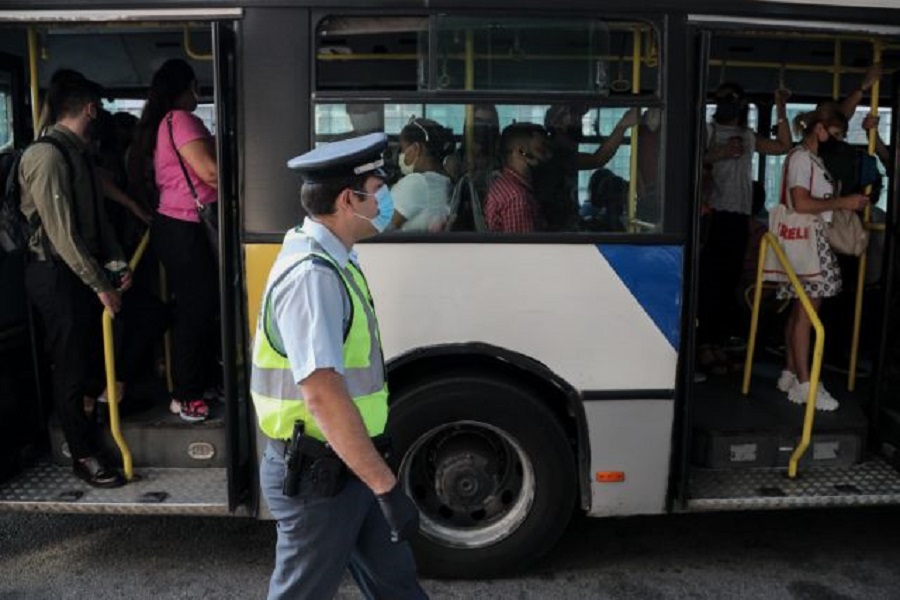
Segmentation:
<svg viewBox="0 0 900 600">
<path fill-rule="evenodd" d="M 188 422 L 209 416 L 204 390 L 218 381 L 216 259 L 191 192 L 202 204 L 216 202 L 218 170 L 212 135 L 192 114 L 198 94 L 191 66 L 166 61 L 153 75 L 138 133 L 159 192 L 150 239 L 174 296 L 170 408 Z"/>
</svg>

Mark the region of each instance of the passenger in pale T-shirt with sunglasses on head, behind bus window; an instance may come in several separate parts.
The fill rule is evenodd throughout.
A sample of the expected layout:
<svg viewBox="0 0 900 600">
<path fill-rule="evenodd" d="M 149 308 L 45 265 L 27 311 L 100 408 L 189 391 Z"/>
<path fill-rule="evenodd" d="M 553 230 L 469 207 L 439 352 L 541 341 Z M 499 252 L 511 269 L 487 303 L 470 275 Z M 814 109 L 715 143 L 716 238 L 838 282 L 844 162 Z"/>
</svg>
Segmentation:
<svg viewBox="0 0 900 600">
<path fill-rule="evenodd" d="M 413 119 L 400 132 L 403 177 L 391 188 L 400 231 L 440 231 L 450 215 L 450 178 L 444 157 L 453 151 L 453 132 L 431 119 Z"/>
</svg>

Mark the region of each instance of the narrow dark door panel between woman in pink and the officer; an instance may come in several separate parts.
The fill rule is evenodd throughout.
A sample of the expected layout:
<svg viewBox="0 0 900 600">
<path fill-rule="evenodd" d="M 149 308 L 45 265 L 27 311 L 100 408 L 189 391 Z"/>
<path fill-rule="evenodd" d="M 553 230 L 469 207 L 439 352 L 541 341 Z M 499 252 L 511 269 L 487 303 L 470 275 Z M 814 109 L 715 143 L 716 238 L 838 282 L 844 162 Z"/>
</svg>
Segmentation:
<svg viewBox="0 0 900 600">
<path fill-rule="evenodd" d="M 238 207 L 238 82 L 235 26 L 213 24 L 215 53 L 216 153 L 219 168 L 219 279 L 221 281 L 222 357 L 226 397 L 228 508 L 246 505 L 255 512 L 256 470 L 253 420 L 247 394 L 244 349 L 243 268 Z"/>
</svg>

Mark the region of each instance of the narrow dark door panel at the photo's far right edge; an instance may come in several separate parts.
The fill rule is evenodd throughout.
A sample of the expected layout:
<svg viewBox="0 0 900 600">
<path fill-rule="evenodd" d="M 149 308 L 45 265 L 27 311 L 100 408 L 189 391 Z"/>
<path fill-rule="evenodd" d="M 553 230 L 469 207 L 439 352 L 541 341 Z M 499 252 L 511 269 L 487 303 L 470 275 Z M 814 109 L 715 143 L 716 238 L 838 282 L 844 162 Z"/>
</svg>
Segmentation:
<svg viewBox="0 0 900 600">
<path fill-rule="evenodd" d="M 882 84 L 883 85 L 883 84 Z M 897 150 L 900 148 L 900 75 L 895 75 L 890 86 L 891 97 L 891 136 L 888 147 L 891 149 L 891 164 L 888 172 L 893 173 L 888 189 L 888 202 L 885 216 L 885 231 L 872 232 L 873 236 L 884 235 L 885 251 L 882 280 L 885 282 L 884 310 L 880 318 L 883 323 L 879 364 L 877 369 L 875 423 L 878 439 L 890 452 L 894 465 L 900 465 L 900 245 L 897 244 L 898 216 L 897 206 L 900 202 L 900 186 L 897 185 Z M 872 246 L 870 245 L 870 251 Z M 877 257 L 876 257 L 877 258 Z M 864 313 L 865 314 L 865 313 Z"/>
</svg>

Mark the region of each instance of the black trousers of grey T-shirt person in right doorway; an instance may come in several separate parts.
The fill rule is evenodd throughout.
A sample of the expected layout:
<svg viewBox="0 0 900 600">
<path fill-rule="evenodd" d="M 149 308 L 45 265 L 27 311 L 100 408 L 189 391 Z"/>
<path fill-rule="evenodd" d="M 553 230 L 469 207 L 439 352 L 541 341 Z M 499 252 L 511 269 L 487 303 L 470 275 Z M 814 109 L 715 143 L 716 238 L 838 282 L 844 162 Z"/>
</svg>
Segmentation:
<svg viewBox="0 0 900 600">
<path fill-rule="evenodd" d="M 750 217 L 716 211 L 708 218 L 706 243 L 700 252 L 697 338 L 701 344 L 722 344 L 743 325 L 736 290 L 744 268 Z"/>
</svg>

